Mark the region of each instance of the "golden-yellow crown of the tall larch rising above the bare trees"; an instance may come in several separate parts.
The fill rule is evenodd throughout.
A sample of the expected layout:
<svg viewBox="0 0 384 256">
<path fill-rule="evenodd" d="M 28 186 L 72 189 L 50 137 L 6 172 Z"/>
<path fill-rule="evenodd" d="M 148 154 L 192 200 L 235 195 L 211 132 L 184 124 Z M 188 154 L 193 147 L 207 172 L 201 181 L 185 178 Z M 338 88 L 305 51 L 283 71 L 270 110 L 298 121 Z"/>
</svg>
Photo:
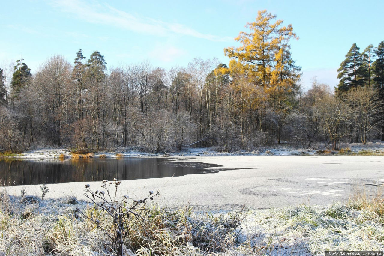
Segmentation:
<svg viewBox="0 0 384 256">
<path fill-rule="evenodd" d="M 224 49 L 232 58 L 228 73 L 236 79 L 246 79 L 248 83 L 261 86 L 273 104 L 273 109 L 281 108 L 286 96 L 293 92 L 300 78 L 300 68 L 294 65 L 290 56 L 289 41 L 298 39 L 292 25 L 282 26 L 276 15 L 259 11 L 256 21 L 248 22 L 250 32 L 241 31 L 235 41 L 241 46 Z M 221 71 L 224 72 L 224 71 Z"/>
</svg>

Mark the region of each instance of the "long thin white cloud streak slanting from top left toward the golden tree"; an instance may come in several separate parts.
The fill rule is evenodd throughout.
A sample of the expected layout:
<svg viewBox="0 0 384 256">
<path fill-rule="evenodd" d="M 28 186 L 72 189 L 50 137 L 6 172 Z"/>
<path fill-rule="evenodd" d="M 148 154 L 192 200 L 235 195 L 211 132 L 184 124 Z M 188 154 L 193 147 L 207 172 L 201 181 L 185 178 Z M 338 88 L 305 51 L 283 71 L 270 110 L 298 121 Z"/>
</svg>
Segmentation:
<svg viewBox="0 0 384 256">
<path fill-rule="evenodd" d="M 200 33 L 178 23 L 167 23 L 148 17 L 137 17 L 108 4 L 86 3 L 81 0 L 53 0 L 52 4 L 63 12 L 73 13 L 79 19 L 90 23 L 111 25 L 125 30 L 157 36 L 172 34 L 192 36 L 210 41 L 233 41 L 229 36 L 216 36 Z"/>
</svg>

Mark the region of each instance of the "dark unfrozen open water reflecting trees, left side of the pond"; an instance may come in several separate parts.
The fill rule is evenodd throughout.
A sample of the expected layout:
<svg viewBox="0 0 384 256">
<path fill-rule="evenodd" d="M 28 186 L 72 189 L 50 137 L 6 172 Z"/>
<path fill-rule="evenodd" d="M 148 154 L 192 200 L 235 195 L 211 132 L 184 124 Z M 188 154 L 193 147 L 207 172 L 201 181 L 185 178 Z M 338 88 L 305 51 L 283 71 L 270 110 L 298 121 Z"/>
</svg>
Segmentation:
<svg viewBox="0 0 384 256">
<path fill-rule="evenodd" d="M 0 179 L 9 185 L 35 185 L 101 180 L 136 180 L 212 173 L 205 167 L 220 165 L 195 162 L 164 162 L 164 158 L 0 160 Z"/>
</svg>

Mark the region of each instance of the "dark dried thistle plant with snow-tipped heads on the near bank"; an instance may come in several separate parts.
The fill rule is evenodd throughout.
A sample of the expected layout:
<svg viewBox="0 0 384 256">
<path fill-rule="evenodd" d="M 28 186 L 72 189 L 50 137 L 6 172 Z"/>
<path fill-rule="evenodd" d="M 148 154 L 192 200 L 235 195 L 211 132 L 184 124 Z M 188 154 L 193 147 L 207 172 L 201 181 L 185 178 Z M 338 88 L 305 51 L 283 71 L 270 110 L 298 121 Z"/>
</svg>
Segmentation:
<svg viewBox="0 0 384 256">
<path fill-rule="evenodd" d="M 145 209 L 145 203 L 147 200 L 153 200 L 154 197 L 159 195 L 160 193 L 154 193 L 152 190 L 149 191 L 149 195 L 144 199 L 132 200 L 132 204 L 129 205 L 130 198 L 127 195 L 123 195 L 121 200 L 116 200 L 117 192 L 119 190 L 119 185 L 121 181 L 113 179 L 113 182 L 108 182 L 108 180 L 103 180 L 101 187 L 104 190 L 91 190 L 91 186 L 89 184 L 85 185 L 85 197 L 88 198 L 88 202 L 94 205 L 95 209 L 102 210 L 107 213 L 107 215 L 111 216 L 113 219 L 113 232 L 112 234 L 106 230 L 103 225 L 101 225 L 101 221 L 93 216 L 86 215 L 79 208 L 75 210 L 75 217 L 78 218 L 82 216 L 93 223 L 96 224 L 98 228 L 100 228 L 113 242 L 116 254 L 118 256 L 123 256 L 123 248 L 124 241 L 126 240 L 129 231 L 132 226 L 134 226 L 137 222 L 140 223 L 143 229 L 143 221 L 146 219 L 143 217 L 143 210 Z M 113 192 L 113 187 L 114 192 Z M 114 194 L 114 195 L 113 195 Z M 142 205 L 141 207 L 137 207 Z M 133 218 L 134 221 L 129 221 L 130 218 Z"/>
</svg>

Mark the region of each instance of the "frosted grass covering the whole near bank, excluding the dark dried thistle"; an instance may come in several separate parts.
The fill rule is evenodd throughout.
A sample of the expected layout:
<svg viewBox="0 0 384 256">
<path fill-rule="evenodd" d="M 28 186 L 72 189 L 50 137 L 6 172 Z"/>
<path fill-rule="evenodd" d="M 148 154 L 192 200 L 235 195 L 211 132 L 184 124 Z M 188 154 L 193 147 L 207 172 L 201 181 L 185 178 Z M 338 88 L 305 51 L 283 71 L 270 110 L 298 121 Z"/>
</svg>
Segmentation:
<svg viewBox="0 0 384 256">
<path fill-rule="evenodd" d="M 105 212 L 74 198 L 37 200 L 0 193 L 0 255 L 115 255 L 95 223 L 75 217 L 81 208 Z M 143 225 L 132 225 L 125 255 L 324 255 L 325 250 L 384 250 L 384 200 L 362 194 L 329 206 L 195 212 L 188 206 L 147 205 Z M 240 226 L 239 226 L 240 225 Z"/>
</svg>

